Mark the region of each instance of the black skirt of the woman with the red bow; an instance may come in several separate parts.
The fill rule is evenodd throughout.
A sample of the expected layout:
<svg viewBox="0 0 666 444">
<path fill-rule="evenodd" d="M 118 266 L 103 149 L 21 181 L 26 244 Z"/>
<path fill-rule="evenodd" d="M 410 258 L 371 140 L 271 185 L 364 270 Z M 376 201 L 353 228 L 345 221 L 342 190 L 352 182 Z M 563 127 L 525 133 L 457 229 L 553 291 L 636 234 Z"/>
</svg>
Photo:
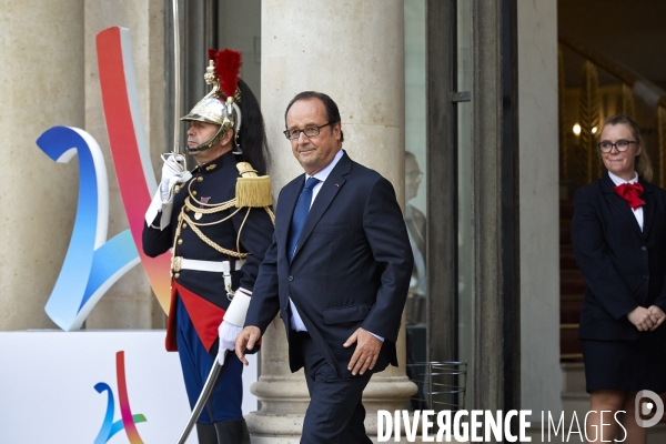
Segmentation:
<svg viewBox="0 0 666 444">
<path fill-rule="evenodd" d="M 666 343 L 655 332 L 640 332 L 635 341 L 581 340 L 581 344 L 588 393 L 594 390 L 666 393 Z"/>
</svg>

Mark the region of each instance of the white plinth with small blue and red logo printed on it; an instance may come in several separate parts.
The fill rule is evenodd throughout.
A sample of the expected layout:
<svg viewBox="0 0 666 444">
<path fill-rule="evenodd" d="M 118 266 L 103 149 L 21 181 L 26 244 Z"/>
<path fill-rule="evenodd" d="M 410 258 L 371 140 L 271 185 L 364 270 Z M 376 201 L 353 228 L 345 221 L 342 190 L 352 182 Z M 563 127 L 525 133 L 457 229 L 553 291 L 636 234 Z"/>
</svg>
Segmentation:
<svg viewBox="0 0 666 444">
<path fill-rule="evenodd" d="M 175 443 L 190 408 L 178 353 L 164 350 L 164 335 L 0 332 L 0 443 Z M 256 356 L 249 361 L 243 414 L 256 410 L 250 393 Z M 189 444 L 196 443 L 195 435 Z"/>
</svg>

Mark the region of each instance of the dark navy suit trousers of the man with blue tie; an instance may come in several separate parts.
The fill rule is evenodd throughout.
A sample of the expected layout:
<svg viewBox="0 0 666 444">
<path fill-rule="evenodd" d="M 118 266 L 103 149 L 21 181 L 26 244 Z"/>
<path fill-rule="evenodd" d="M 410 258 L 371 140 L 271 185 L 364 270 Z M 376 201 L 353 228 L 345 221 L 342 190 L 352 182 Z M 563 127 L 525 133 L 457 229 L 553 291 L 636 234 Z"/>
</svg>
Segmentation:
<svg viewBox="0 0 666 444">
<path fill-rule="evenodd" d="M 361 398 L 372 372 L 340 377 L 310 334 L 291 332 L 305 362 L 310 405 L 303 421 L 301 444 L 366 444 L 365 408 Z M 341 344 L 342 345 L 342 344 Z"/>
</svg>

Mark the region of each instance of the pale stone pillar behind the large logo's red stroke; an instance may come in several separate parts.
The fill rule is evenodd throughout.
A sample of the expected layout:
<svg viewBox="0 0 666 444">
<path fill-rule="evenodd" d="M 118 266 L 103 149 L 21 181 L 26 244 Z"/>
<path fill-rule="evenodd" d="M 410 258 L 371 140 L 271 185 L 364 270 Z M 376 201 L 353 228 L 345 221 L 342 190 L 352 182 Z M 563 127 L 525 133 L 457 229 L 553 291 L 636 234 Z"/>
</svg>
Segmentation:
<svg viewBox="0 0 666 444">
<path fill-rule="evenodd" d="M 128 28 L 132 38 L 137 90 L 155 172 L 160 174 L 160 154 L 171 150 L 167 142 L 163 0 L 85 0 L 85 131 L 98 141 L 109 173 L 108 239 L 125 230 L 128 220 L 120 198 L 109 135 L 102 109 L 98 74 L 97 34 L 109 27 Z M 171 40 L 170 40 L 171 41 Z M 171 46 L 169 46 L 171 48 Z M 171 117 L 169 117 L 171 118 Z M 98 302 L 88 316 L 94 329 L 163 327 L 165 315 L 152 294 L 141 265 L 122 276 Z"/>
</svg>

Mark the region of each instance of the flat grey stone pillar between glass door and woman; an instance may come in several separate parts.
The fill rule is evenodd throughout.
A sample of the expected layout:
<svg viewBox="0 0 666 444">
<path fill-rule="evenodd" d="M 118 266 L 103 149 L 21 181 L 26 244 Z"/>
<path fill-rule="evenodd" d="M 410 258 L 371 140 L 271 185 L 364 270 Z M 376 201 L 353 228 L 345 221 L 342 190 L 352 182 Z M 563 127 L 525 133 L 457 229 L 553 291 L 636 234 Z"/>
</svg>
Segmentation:
<svg viewBox="0 0 666 444">
<path fill-rule="evenodd" d="M 521 408 L 562 412 L 557 4 L 517 2 L 521 163 Z M 538 60 L 538 63 L 534 61 Z M 539 110 L 534 112 L 534 110 Z M 538 261 L 531 260 L 539 258 Z M 543 384 L 548 381 L 548 384 Z"/>
</svg>

